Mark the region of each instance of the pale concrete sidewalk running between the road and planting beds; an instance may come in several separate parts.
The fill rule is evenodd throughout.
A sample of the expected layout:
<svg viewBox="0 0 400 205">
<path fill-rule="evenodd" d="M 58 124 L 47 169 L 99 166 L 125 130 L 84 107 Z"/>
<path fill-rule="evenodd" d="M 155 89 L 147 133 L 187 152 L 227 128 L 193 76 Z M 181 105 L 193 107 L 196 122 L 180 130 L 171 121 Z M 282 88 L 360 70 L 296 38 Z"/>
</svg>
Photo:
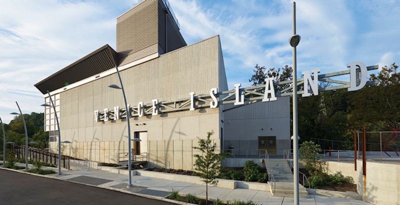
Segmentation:
<svg viewBox="0 0 400 205">
<path fill-rule="evenodd" d="M 19 165 L 24 165 L 18 163 Z M 32 167 L 29 164 L 29 167 Z M 43 167 L 50 168 L 57 171 L 54 167 Z M 124 174 L 111 173 L 104 170 L 90 169 L 88 171 L 81 170 L 61 170 L 62 174 L 58 175 L 49 174 L 45 177 L 58 178 L 61 180 L 67 180 L 77 183 L 82 183 L 91 186 L 97 186 L 101 188 L 113 189 L 126 193 L 142 195 L 145 197 L 156 198 L 160 200 L 167 200 L 165 196 L 170 193 L 170 190 L 178 190 L 181 194 L 191 193 L 201 198 L 205 198 L 205 185 L 187 183 L 180 181 L 167 180 L 155 177 L 144 177 L 139 175 L 132 175 L 133 187 L 127 187 L 128 176 Z M 339 197 L 328 197 L 323 195 L 310 194 L 310 198 L 300 198 L 300 204 L 369 204 L 361 200 L 339 198 Z M 252 200 L 260 204 L 293 204 L 293 198 L 291 197 L 274 197 L 268 191 L 251 190 L 251 189 L 228 189 L 216 186 L 208 187 L 208 197 L 212 199 L 222 199 L 227 201 L 233 200 Z M 180 204 L 182 204 L 180 202 Z M 183 203 L 184 204 L 184 203 Z"/>
</svg>

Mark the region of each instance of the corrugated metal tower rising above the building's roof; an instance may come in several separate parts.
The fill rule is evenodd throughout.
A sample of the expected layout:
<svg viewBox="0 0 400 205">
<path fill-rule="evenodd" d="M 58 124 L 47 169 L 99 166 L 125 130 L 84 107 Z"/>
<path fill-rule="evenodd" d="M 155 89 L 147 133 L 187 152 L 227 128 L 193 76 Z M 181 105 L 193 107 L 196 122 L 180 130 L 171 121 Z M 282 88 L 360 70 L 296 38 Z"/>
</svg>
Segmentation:
<svg viewBox="0 0 400 205">
<path fill-rule="evenodd" d="M 172 16 L 165 9 L 160 0 L 145 0 L 117 18 L 119 65 L 186 45 Z"/>
</svg>

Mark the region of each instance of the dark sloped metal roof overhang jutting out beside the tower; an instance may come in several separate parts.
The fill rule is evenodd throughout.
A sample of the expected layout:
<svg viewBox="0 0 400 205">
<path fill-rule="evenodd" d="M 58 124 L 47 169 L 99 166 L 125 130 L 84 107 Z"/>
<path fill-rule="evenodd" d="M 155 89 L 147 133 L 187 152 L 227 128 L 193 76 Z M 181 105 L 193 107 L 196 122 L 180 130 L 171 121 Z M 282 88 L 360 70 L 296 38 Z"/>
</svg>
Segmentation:
<svg viewBox="0 0 400 205">
<path fill-rule="evenodd" d="M 115 67 L 117 53 L 108 44 L 46 77 L 34 86 L 47 93 Z"/>
</svg>

